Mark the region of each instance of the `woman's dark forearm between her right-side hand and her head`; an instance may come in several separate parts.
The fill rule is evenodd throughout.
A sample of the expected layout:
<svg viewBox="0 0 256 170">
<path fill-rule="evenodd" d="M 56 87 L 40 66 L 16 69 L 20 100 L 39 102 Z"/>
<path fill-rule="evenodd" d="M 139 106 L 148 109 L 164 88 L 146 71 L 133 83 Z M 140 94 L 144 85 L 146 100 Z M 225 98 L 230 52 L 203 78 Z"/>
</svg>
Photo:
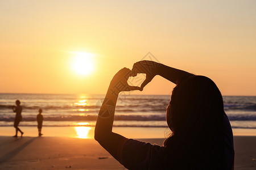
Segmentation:
<svg viewBox="0 0 256 170">
<path fill-rule="evenodd" d="M 187 71 L 175 69 L 173 67 L 169 67 L 163 64 L 160 64 L 157 69 L 157 74 L 162 76 L 163 78 L 170 80 L 172 83 L 179 83 L 183 79 L 188 78 L 194 74 L 188 73 Z"/>
</svg>

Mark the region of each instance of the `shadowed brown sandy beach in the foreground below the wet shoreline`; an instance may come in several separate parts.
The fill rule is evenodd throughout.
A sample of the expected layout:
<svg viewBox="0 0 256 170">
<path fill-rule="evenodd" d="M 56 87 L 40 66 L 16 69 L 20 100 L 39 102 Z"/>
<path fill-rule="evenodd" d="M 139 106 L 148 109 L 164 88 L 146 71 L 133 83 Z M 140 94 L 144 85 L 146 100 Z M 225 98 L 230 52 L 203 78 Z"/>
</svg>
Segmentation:
<svg viewBox="0 0 256 170">
<path fill-rule="evenodd" d="M 26 127 L 21 128 L 27 130 Z M 3 129 L 13 130 L 11 127 L 1 128 L 1 134 Z M 52 133 L 58 131 L 58 128 L 51 129 Z M 72 127 L 61 129 L 62 131 L 67 129 L 70 130 L 69 132 L 72 131 Z M 44 130 L 46 132 L 47 128 L 44 128 Z M 115 130 L 121 131 L 123 129 Z M 130 131 L 127 129 L 126 131 L 126 136 L 129 137 L 134 130 L 130 128 Z M 159 131 L 162 131 L 162 129 L 159 129 Z M 92 132 L 88 134 L 90 133 Z M 23 138 L 1 135 L 0 169 L 125 169 L 90 135 L 86 139 L 81 139 L 76 136 L 77 134 L 73 137 L 60 137 L 60 133 L 58 134 L 56 137 L 49 137 L 49 135 L 44 137 L 31 135 L 31 137 L 28 137 L 27 134 Z M 134 136 L 136 137 L 136 135 Z M 164 140 L 163 138 L 150 139 L 146 138 L 149 136 L 144 137 L 144 139 L 141 139 L 142 141 L 158 145 L 162 145 Z M 235 169 L 256 168 L 255 143 L 256 136 L 236 135 L 234 137 Z"/>
</svg>

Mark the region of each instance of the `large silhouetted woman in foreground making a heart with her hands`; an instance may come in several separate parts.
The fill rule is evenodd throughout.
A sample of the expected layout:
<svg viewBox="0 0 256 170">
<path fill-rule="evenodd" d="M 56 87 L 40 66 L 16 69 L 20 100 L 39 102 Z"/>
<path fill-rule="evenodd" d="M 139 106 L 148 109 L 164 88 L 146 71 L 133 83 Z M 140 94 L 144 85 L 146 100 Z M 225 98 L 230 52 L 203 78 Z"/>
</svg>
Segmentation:
<svg viewBox="0 0 256 170">
<path fill-rule="evenodd" d="M 146 74 L 141 87 L 129 86 L 129 76 Z M 166 121 L 172 131 L 163 146 L 113 133 L 118 94 L 142 91 L 155 75 L 175 83 Z M 153 61 L 134 63 L 114 75 L 98 112 L 94 138 L 127 169 L 233 169 L 233 132 L 220 90 L 206 76 L 194 75 Z"/>
</svg>

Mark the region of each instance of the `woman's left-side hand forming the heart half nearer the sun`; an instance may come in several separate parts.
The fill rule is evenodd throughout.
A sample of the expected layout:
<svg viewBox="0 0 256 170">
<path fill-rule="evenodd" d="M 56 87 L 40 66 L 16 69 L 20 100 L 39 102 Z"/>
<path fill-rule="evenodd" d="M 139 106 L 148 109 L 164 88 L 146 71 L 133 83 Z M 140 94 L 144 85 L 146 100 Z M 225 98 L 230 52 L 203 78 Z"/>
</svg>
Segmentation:
<svg viewBox="0 0 256 170">
<path fill-rule="evenodd" d="M 121 91 L 132 91 L 132 90 L 139 90 L 137 86 L 130 86 L 127 83 L 127 80 L 131 76 L 131 70 L 127 69 L 126 67 L 119 70 L 117 74 L 114 75 L 113 79 L 110 82 L 110 90 L 118 95 Z"/>
</svg>

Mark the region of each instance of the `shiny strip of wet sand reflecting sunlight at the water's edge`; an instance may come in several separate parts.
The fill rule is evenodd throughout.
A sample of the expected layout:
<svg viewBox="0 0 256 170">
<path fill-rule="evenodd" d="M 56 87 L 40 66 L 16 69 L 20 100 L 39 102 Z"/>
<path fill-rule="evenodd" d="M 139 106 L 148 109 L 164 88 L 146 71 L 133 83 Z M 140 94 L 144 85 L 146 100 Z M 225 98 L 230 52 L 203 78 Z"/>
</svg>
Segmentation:
<svg viewBox="0 0 256 170">
<path fill-rule="evenodd" d="M 23 137 L 38 137 L 38 129 L 35 126 L 20 126 Z M 42 128 L 43 137 L 71 137 L 71 138 L 94 138 L 94 126 L 61 126 Z M 256 129 L 234 128 L 234 136 L 256 136 Z M 126 138 L 167 138 L 171 131 L 168 128 L 143 128 L 143 127 L 113 127 L 115 133 L 121 134 Z M 1 126 L 0 136 L 13 136 L 15 129 L 12 126 Z M 18 133 L 20 136 L 20 133 Z"/>
</svg>

